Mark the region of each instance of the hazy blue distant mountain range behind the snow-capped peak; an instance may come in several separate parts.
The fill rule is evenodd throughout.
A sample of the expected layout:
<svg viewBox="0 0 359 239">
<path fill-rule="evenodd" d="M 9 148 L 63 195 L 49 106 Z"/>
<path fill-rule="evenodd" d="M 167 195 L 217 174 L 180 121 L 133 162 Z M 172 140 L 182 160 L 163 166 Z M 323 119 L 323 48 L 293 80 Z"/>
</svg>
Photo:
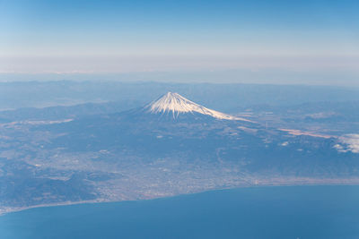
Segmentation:
<svg viewBox="0 0 359 239">
<path fill-rule="evenodd" d="M 257 105 L 277 107 L 320 101 L 359 100 L 357 87 L 241 83 L 20 81 L 0 82 L 0 109 L 69 107 L 85 103 L 118 102 L 118 110 L 127 110 L 140 107 L 167 91 L 179 92 L 197 103 L 223 112 L 233 112 L 239 107 Z"/>
</svg>

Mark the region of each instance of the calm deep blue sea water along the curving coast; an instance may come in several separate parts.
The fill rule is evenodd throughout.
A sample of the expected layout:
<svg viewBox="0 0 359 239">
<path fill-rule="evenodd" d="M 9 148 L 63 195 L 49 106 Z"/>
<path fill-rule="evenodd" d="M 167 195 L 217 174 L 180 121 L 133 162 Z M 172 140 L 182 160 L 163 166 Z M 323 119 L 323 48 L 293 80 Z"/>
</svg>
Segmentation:
<svg viewBox="0 0 359 239">
<path fill-rule="evenodd" d="M 0 238 L 359 238 L 359 186 L 254 187 L 0 217 Z"/>
</svg>

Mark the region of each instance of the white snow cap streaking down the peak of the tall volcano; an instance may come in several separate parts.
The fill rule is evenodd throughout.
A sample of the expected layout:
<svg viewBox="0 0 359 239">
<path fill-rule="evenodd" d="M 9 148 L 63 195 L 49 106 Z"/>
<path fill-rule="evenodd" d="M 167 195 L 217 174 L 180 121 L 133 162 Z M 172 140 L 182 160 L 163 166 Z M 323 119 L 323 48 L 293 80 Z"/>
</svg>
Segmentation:
<svg viewBox="0 0 359 239">
<path fill-rule="evenodd" d="M 180 114 L 183 113 L 193 114 L 197 112 L 203 115 L 210 115 L 217 119 L 241 120 L 251 122 L 250 120 L 244 118 L 227 115 L 213 109 L 202 107 L 195 102 L 192 102 L 189 99 L 180 96 L 180 94 L 172 92 L 168 92 L 161 98 L 158 98 L 157 100 L 147 105 L 145 108 L 148 110 L 148 112 L 153 114 L 170 113 L 173 115 L 174 118 L 178 117 Z"/>
</svg>

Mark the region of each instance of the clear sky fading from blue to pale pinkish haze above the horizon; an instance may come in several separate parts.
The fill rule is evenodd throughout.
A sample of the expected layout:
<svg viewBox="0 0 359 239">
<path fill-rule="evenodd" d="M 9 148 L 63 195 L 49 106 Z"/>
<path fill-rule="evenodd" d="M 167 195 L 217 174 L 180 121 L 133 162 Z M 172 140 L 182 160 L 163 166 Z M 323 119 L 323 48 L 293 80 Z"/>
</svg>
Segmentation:
<svg viewBox="0 0 359 239">
<path fill-rule="evenodd" d="M 358 13 L 346 0 L 0 0 L 0 73 L 284 71 L 355 82 Z"/>
</svg>

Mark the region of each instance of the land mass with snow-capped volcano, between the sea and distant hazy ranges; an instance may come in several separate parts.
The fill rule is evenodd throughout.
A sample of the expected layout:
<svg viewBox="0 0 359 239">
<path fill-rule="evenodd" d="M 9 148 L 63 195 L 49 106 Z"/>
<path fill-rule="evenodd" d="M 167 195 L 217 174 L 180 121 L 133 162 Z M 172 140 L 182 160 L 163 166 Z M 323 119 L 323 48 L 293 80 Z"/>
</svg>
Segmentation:
<svg viewBox="0 0 359 239">
<path fill-rule="evenodd" d="M 167 93 L 119 113 L 53 118 L 52 108 L 47 118 L 44 108 L 34 119 L 28 109 L 31 117 L 14 120 L 16 112 L 4 112 L 0 212 L 257 185 L 358 184 L 357 122 L 341 107 L 230 115 Z"/>
</svg>

